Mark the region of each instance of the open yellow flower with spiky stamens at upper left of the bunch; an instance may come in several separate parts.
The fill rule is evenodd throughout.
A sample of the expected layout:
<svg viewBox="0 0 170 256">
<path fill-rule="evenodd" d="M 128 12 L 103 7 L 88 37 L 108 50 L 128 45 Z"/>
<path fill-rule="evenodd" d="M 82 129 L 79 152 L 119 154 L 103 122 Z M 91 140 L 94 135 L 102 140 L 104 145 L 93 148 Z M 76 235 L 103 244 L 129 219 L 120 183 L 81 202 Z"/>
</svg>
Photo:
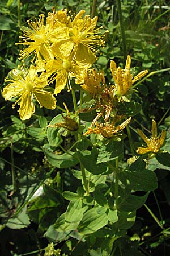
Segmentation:
<svg viewBox="0 0 170 256">
<path fill-rule="evenodd" d="M 21 59 L 25 59 L 31 56 L 34 53 L 33 60 L 35 59 L 42 59 L 45 60 L 51 59 L 52 53 L 49 50 L 49 35 L 52 31 L 50 26 L 44 23 L 44 14 L 40 14 L 40 19 L 35 22 L 28 20 L 28 28 L 25 28 L 23 31 L 23 36 L 20 38 L 23 41 L 20 41 L 16 44 L 23 44 L 27 48 L 24 48 L 23 51 L 20 51 Z"/>
</svg>

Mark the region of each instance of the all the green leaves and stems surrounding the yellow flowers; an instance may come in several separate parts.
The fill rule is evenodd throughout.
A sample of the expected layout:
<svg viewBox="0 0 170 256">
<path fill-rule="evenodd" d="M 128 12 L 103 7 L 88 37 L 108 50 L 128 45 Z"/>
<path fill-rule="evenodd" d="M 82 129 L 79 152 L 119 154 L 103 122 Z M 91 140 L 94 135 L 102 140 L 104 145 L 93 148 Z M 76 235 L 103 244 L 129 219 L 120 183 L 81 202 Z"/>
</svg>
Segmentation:
<svg viewBox="0 0 170 256">
<path fill-rule="evenodd" d="M 4 79 L 10 69 L 22 64 L 18 59 L 22 45 L 15 43 L 28 19 L 40 13 L 46 15 L 53 6 L 72 13 L 84 9 L 91 14 L 94 2 L 1 1 L 1 88 L 7 85 Z M 56 96 L 57 108 L 53 112 L 37 104 L 33 117 L 21 121 L 18 112 L 11 109 L 14 100 L 5 102 L 1 97 L 2 256 L 168 254 L 169 10 L 164 1 L 121 1 L 125 42 L 117 2 L 98 1 L 95 6 L 97 26 L 102 26 L 103 32 L 109 31 L 104 34 L 105 48 L 101 55 L 97 53 L 94 64 L 103 70 L 106 84 L 115 84 L 110 60 L 124 67 L 125 53 L 130 54 L 135 65 L 133 77 L 143 69 L 149 71 L 133 84 L 130 102 L 117 100 L 109 112 L 109 108 L 104 109 L 107 90 L 97 98 L 95 106 L 96 98 L 72 80 L 73 101 L 66 88 Z M 28 63 L 25 60 L 25 65 Z M 63 102 L 70 113 L 63 109 Z M 106 113 L 100 115 L 103 110 Z M 132 117 L 127 130 L 124 127 L 112 138 L 83 135 L 97 114 L 99 119 L 95 121 L 105 123 L 106 116 L 113 119 L 115 113 L 124 120 Z M 66 118 L 76 122 L 78 129 L 66 129 Z M 158 136 L 162 130 L 167 131 L 166 143 L 158 152 L 138 155 L 137 148 L 148 145 L 139 137 L 137 128 L 151 141 L 151 119 L 158 123 Z M 115 127 L 122 122 L 116 122 Z"/>
</svg>

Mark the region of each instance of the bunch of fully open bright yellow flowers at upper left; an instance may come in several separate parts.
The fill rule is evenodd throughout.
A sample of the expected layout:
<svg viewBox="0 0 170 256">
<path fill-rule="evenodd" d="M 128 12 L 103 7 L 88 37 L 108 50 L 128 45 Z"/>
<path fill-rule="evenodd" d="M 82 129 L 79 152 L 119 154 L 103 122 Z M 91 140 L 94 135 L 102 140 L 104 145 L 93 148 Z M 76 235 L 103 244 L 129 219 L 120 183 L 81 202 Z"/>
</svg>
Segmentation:
<svg viewBox="0 0 170 256">
<path fill-rule="evenodd" d="M 31 66 L 25 68 L 23 64 L 11 71 L 5 80 L 9 84 L 3 89 L 6 100 L 19 97 L 15 104 L 20 105 L 22 120 L 31 118 L 35 112 L 33 98 L 40 106 L 55 108 L 56 98 L 48 86 L 54 80 L 56 95 L 66 85 L 71 90 L 73 77 L 76 84 L 84 81 L 84 70 L 96 60 L 96 47 L 104 46 L 100 28 L 96 28 L 97 16 L 91 19 L 85 15 L 83 18 L 84 14 L 81 10 L 73 17 L 67 9 L 53 10 L 46 22 L 44 14 L 35 22 L 28 21 L 18 44 L 25 47 L 20 51 L 20 59 L 29 59 Z"/>
</svg>

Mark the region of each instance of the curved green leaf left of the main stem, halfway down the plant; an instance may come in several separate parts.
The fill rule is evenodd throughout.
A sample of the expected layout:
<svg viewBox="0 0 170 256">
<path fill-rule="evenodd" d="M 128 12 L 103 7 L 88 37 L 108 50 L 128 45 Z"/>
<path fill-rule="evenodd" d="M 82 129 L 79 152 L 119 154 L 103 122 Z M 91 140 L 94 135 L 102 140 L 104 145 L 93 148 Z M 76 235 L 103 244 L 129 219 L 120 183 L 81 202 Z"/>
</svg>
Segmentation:
<svg viewBox="0 0 170 256">
<path fill-rule="evenodd" d="M 76 152 L 69 151 L 69 154 L 63 153 L 62 155 L 57 155 L 54 151 L 49 150 L 48 148 L 43 147 L 42 150 L 44 151 L 48 162 L 57 168 L 69 168 L 75 166 L 79 162 L 76 158 Z"/>
</svg>

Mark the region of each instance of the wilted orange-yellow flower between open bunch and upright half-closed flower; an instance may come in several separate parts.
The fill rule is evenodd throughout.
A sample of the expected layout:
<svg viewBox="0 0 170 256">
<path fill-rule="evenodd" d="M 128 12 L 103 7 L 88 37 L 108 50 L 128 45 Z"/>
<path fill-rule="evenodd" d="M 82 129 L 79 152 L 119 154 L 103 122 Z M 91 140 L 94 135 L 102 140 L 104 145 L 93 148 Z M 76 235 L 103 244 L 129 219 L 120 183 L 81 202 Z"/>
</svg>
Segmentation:
<svg viewBox="0 0 170 256">
<path fill-rule="evenodd" d="M 85 70 L 83 73 L 84 84 L 81 85 L 92 97 L 101 90 L 100 82 L 105 84 L 105 78 L 102 72 L 97 72 L 96 69 Z"/>
</svg>

